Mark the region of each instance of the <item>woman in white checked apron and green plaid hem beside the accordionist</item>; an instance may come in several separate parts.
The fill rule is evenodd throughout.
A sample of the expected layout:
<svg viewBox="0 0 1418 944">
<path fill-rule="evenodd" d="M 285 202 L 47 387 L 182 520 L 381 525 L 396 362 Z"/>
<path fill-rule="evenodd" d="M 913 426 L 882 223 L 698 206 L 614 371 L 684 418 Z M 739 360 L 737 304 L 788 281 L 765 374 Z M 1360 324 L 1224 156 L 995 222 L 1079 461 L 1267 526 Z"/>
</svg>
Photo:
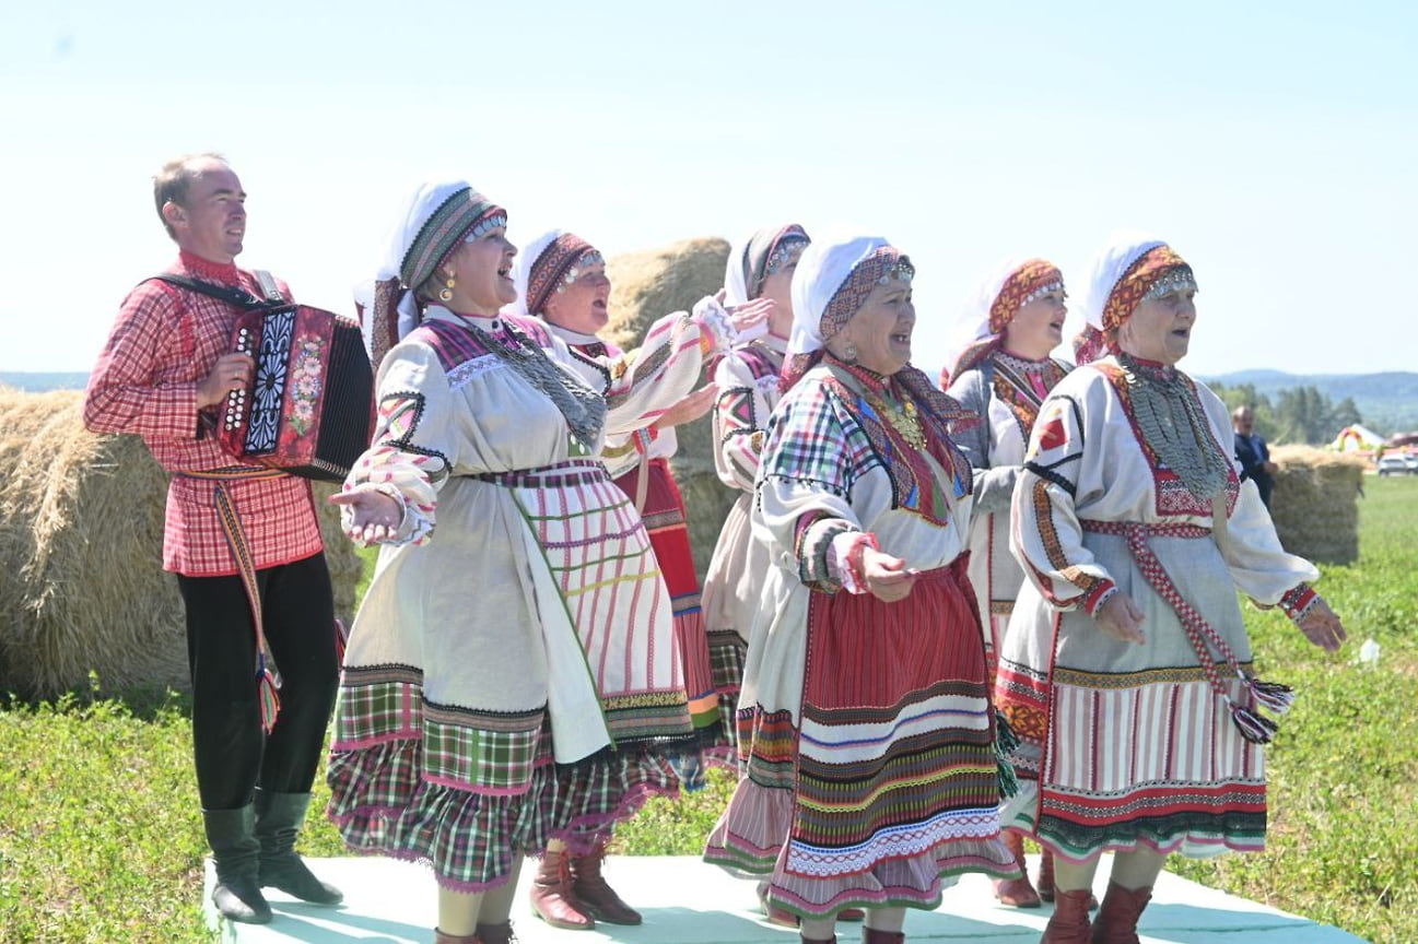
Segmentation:
<svg viewBox="0 0 1418 944">
<path fill-rule="evenodd" d="M 345 656 L 330 818 L 353 849 L 432 863 L 445 944 L 509 940 L 522 856 L 591 852 L 675 795 L 649 746 L 692 734 L 649 537 L 597 458 L 601 378 L 499 315 L 505 225 L 464 181 L 414 193 L 366 312 L 376 356 L 397 340 L 374 442 L 332 499 L 383 549 Z"/>
</svg>

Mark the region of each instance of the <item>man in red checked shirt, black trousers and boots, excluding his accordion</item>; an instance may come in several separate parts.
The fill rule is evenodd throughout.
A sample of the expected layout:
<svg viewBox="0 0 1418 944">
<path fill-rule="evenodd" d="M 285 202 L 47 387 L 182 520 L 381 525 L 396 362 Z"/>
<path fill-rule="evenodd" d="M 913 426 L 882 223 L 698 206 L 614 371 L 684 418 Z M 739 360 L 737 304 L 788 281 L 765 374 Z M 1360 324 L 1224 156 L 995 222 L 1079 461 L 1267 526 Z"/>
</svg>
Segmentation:
<svg viewBox="0 0 1418 944">
<path fill-rule="evenodd" d="M 228 394 L 254 371 L 250 356 L 231 353 L 233 325 L 245 296 L 267 295 L 234 262 L 247 227 L 241 181 L 220 156 L 187 154 L 153 177 L 153 197 L 179 257 L 123 300 L 84 421 L 140 435 L 172 473 L 163 568 L 186 604 L 213 900 L 230 920 L 265 923 L 262 886 L 340 900 L 294 849 L 339 680 L 330 577 L 309 482 L 233 458 L 216 432 Z"/>
</svg>

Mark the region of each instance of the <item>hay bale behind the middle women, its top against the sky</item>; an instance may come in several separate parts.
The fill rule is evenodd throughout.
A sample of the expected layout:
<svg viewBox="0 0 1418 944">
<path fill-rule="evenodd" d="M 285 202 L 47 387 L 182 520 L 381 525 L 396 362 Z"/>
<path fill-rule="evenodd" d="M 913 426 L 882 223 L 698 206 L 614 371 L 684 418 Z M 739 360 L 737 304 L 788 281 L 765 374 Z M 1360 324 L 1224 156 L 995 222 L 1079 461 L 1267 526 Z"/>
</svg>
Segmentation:
<svg viewBox="0 0 1418 944">
<path fill-rule="evenodd" d="M 705 295 L 723 288 L 729 244 L 723 240 L 685 240 L 662 249 L 618 255 L 607 261 L 611 279 L 607 340 L 631 350 L 655 319 L 686 310 Z M 719 482 L 713 466 L 713 434 L 709 417 L 678 427 L 679 451 L 669 468 L 685 496 L 689 543 L 700 583 L 709 568 L 715 541 L 737 493 Z"/>
</svg>

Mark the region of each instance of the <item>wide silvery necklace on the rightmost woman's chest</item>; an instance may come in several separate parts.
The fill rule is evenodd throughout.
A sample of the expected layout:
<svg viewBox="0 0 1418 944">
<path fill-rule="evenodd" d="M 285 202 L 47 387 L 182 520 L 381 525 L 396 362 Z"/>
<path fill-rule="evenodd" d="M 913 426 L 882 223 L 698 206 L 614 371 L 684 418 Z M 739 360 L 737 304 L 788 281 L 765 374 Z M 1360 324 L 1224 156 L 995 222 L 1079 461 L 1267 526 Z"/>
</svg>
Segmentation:
<svg viewBox="0 0 1418 944">
<path fill-rule="evenodd" d="M 1139 363 L 1119 353 L 1133 417 L 1143 441 L 1197 499 L 1205 502 L 1227 485 L 1231 472 L 1211 437 L 1211 427 L 1185 374 Z"/>
</svg>

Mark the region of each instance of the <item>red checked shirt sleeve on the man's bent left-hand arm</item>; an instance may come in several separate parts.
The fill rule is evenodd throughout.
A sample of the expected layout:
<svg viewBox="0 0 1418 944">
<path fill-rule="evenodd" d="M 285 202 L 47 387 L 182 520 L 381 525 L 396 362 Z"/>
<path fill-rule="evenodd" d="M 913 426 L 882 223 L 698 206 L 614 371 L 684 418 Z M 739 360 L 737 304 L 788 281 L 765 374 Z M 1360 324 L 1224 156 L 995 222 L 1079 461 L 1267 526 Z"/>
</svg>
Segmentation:
<svg viewBox="0 0 1418 944">
<path fill-rule="evenodd" d="M 197 383 L 155 380 L 157 357 L 176 330 L 176 293 L 145 282 L 125 299 L 89 374 L 84 424 L 94 432 L 146 439 L 197 439 Z"/>
</svg>

